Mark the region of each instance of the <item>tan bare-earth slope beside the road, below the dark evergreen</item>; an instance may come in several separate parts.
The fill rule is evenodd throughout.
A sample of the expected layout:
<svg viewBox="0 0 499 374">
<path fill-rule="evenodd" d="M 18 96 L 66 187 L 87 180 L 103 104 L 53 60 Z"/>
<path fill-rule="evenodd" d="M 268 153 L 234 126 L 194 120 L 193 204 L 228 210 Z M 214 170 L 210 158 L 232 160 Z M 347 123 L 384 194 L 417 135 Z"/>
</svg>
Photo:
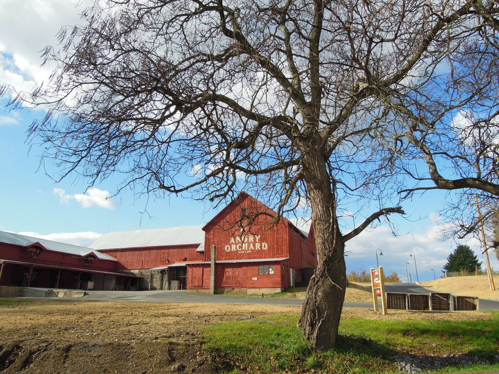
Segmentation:
<svg viewBox="0 0 499 374">
<path fill-rule="evenodd" d="M 499 300 L 499 276 L 494 275 L 495 291 L 491 291 L 487 275 L 439 278 L 430 282 L 421 283 L 436 292 L 448 292 L 459 296 L 474 296 L 481 299 Z"/>
</svg>

